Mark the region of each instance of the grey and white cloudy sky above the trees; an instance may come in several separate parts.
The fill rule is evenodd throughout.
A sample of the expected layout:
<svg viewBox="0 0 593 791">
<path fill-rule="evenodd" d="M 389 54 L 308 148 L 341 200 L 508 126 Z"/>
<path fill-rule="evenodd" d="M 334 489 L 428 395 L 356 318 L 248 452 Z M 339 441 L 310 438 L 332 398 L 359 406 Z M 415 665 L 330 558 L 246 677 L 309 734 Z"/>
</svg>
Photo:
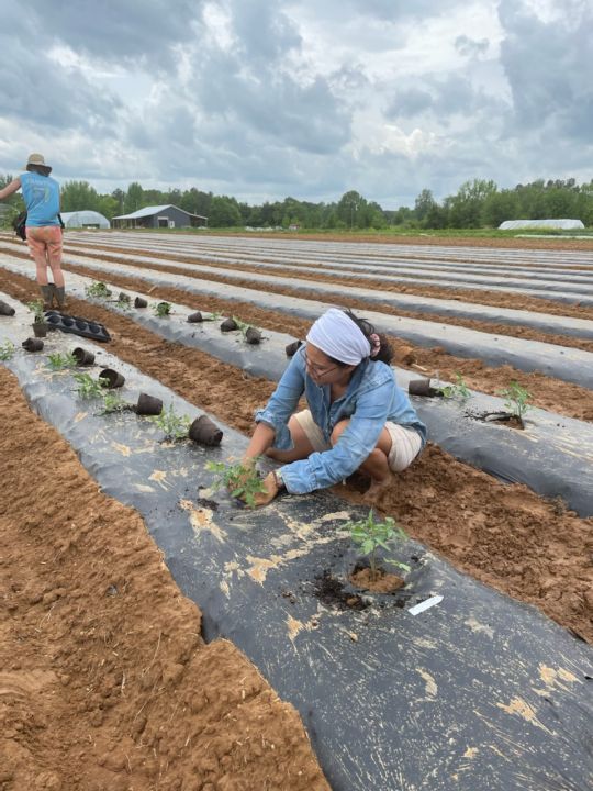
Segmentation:
<svg viewBox="0 0 593 791">
<path fill-rule="evenodd" d="M 593 0 L 0 0 L 0 172 L 388 209 L 593 178 Z"/>
</svg>

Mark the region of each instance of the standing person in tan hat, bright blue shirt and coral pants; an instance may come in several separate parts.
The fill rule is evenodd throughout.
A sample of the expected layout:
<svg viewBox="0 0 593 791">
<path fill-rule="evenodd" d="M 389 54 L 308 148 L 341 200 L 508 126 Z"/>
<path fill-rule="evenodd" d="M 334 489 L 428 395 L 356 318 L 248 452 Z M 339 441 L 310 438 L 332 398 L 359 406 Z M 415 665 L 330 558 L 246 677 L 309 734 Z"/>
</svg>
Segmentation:
<svg viewBox="0 0 593 791">
<path fill-rule="evenodd" d="M 26 172 L 0 190 L 0 200 L 23 190 L 26 205 L 26 243 L 37 270 L 37 285 L 44 308 L 52 308 L 55 294 L 59 310 L 66 308 L 64 274 L 61 271 L 61 223 L 59 218 L 59 185 L 49 178 L 52 168 L 41 154 L 31 154 Z M 54 282 L 47 282 L 47 267 Z"/>
</svg>

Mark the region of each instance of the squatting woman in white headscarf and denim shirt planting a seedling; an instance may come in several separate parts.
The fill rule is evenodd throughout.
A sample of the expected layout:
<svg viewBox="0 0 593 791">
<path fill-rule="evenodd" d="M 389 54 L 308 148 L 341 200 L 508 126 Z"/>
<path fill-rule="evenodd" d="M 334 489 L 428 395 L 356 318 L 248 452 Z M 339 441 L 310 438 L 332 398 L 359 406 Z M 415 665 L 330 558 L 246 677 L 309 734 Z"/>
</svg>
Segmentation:
<svg viewBox="0 0 593 791">
<path fill-rule="evenodd" d="M 244 456 L 266 454 L 283 466 L 264 480 L 258 505 L 286 488 L 303 494 L 355 470 L 380 488 L 426 443 L 426 427 L 389 366 L 391 348 L 369 322 L 332 308 L 311 327 L 265 409 Z M 294 411 L 301 396 L 309 409 Z"/>
</svg>

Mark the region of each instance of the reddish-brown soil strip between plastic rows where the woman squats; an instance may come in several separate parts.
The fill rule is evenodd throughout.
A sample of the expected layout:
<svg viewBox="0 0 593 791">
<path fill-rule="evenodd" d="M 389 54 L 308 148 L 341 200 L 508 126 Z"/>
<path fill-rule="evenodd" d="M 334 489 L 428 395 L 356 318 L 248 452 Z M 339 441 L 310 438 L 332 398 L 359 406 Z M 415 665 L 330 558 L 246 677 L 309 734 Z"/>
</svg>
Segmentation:
<svg viewBox="0 0 593 791">
<path fill-rule="evenodd" d="M 2 270 L 0 290 L 21 300 L 35 294 L 31 280 Z M 254 412 L 271 393 L 271 382 L 165 342 L 100 307 L 71 300 L 71 310 L 109 326 L 113 354 L 228 425 L 253 430 Z M 526 487 L 497 483 L 432 445 L 378 500 L 365 500 L 354 487 L 336 493 L 380 508 L 477 579 L 593 640 L 592 519 L 578 519 Z"/>
</svg>

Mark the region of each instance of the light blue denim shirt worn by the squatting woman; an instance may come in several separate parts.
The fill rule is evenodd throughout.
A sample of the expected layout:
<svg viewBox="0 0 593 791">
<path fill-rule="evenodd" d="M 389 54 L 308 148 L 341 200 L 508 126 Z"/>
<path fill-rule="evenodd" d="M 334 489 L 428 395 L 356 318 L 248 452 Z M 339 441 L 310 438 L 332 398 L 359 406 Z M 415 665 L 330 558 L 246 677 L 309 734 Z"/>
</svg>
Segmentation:
<svg viewBox="0 0 593 791">
<path fill-rule="evenodd" d="M 293 494 L 325 489 L 351 475 L 376 448 L 388 422 L 415 430 L 422 447 L 426 444 L 426 426 L 396 385 L 393 369 L 384 363 L 362 360 L 355 368 L 346 392 L 334 403 L 331 390 L 329 385 L 315 385 L 307 376 L 303 346 L 290 361 L 266 408 L 256 413 L 257 423 L 267 423 L 276 431 L 273 447 L 279 450 L 293 447 L 288 422 L 303 392 L 328 444 L 334 426 L 350 420 L 333 448 L 282 467 L 282 480 Z"/>
</svg>

